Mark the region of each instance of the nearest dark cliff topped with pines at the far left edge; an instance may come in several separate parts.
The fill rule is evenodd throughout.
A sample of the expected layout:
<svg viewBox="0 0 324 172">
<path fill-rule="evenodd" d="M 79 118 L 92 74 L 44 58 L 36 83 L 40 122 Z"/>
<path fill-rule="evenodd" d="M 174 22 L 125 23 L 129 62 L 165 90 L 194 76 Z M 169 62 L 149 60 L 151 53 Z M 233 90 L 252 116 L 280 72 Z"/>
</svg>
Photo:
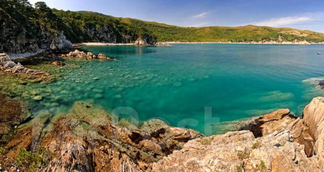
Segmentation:
<svg viewBox="0 0 324 172">
<path fill-rule="evenodd" d="M 48 7 L 34 9 L 24 1 L 3 1 L 0 5 L 0 52 L 25 53 L 40 49 L 65 50 L 72 44 L 60 31 Z"/>
</svg>

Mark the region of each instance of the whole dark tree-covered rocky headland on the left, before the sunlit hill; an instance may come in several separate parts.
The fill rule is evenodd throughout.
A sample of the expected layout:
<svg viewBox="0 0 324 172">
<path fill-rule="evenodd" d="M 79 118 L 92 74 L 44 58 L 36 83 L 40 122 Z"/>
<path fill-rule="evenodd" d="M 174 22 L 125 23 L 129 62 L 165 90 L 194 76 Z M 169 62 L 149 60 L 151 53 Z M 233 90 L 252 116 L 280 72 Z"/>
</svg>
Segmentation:
<svg viewBox="0 0 324 172">
<path fill-rule="evenodd" d="M 118 18 L 95 13 L 50 9 L 45 3 L 33 8 L 28 1 L 4 0 L 0 4 L 0 53 L 68 50 L 72 42 L 155 44 L 149 31 L 121 24 Z"/>
</svg>

